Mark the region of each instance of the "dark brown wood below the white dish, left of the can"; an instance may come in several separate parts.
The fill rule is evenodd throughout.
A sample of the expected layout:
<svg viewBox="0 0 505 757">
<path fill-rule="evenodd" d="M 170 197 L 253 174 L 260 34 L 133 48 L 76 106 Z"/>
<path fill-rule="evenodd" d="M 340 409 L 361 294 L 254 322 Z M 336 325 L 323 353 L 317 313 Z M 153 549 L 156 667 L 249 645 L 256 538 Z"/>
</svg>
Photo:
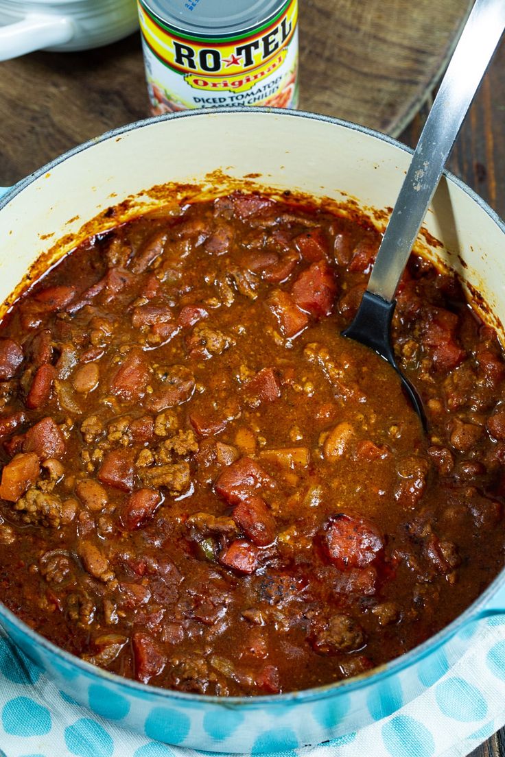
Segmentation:
<svg viewBox="0 0 505 757">
<path fill-rule="evenodd" d="M 138 35 L 83 53 L 0 64 L 0 184 L 114 126 L 148 115 Z"/>
</svg>

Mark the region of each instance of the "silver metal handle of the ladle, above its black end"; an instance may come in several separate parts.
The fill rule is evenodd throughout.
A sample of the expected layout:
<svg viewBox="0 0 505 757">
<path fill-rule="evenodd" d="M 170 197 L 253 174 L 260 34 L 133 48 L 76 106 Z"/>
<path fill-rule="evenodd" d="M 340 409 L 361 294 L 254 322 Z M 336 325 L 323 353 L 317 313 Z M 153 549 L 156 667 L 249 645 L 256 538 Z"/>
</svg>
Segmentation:
<svg viewBox="0 0 505 757">
<path fill-rule="evenodd" d="M 368 291 L 394 298 L 445 161 L 505 27 L 505 0 L 476 0 L 382 238 Z"/>
</svg>

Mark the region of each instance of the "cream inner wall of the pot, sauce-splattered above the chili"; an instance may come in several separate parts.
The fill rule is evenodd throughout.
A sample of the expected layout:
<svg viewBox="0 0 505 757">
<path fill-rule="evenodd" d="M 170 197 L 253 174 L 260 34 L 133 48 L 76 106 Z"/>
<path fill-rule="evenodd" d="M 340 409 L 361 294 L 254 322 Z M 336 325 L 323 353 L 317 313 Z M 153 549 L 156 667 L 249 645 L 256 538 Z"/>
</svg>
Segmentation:
<svg viewBox="0 0 505 757">
<path fill-rule="evenodd" d="M 220 170 L 259 186 L 301 191 L 360 207 L 392 207 L 410 161 L 407 151 L 341 123 L 300 114 L 202 111 L 151 120 L 115 133 L 57 162 L 0 213 L 0 300 L 26 270 L 61 240 L 61 252 L 86 233 L 83 223 L 132 198 L 127 217 L 159 202 L 149 188 L 167 182 L 203 184 L 219 192 Z M 259 174 L 259 176 L 258 176 Z M 113 226 L 115 219 L 103 219 Z M 376 225 L 385 225 L 384 213 Z M 505 319 L 503 229 L 488 210 L 450 179 L 442 179 L 421 247 L 460 271 L 499 319 Z M 80 231 L 79 231 L 80 230 Z"/>
</svg>

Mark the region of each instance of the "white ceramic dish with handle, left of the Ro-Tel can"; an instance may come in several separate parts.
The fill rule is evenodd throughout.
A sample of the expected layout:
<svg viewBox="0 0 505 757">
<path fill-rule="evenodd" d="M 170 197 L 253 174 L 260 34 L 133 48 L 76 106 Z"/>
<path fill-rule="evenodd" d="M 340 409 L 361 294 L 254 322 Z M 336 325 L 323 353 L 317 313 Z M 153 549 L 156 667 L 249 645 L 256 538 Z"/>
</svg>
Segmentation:
<svg viewBox="0 0 505 757">
<path fill-rule="evenodd" d="M 0 61 L 108 45 L 138 26 L 135 0 L 0 0 Z"/>
</svg>

